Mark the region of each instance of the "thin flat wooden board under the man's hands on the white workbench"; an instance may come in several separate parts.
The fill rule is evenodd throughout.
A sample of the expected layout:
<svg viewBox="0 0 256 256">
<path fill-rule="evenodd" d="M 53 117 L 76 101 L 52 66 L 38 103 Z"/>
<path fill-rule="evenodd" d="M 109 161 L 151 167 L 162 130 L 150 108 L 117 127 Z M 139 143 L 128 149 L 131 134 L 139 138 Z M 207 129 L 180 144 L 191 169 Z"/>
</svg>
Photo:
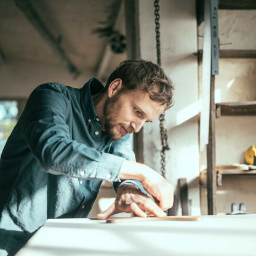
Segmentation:
<svg viewBox="0 0 256 256">
<path fill-rule="evenodd" d="M 166 216 L 166 217 L 156 217 L 153 215 L 148 215 L 146 218 L 142 217 L 127 217 L 127 218 L 107 218 L 106 223 L 122 223 L 122 222 L 149 222 L 158 220 L 182 220 L 182 221 L 196 221 L 200 220 L 199 216 Z"/>
</svg>

